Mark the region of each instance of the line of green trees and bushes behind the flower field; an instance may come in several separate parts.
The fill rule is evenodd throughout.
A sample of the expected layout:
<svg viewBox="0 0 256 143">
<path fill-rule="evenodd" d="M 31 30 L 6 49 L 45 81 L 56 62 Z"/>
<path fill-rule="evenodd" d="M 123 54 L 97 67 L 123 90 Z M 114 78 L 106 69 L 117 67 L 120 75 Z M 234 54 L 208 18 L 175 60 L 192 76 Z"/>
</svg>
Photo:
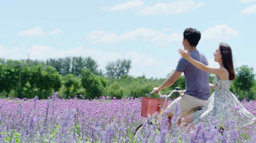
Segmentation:
<svg viewBox="0 0 256 143">
<path fill-rule="evenodd" d="M 83 95 L 86 99 L 110 96 L 138 98 L 161 85 L 165 78 L 146 78 L 144 75 L 130 76 L 131 60 L 109 61 L 104 70 L 98 68 L 92 57 L 64 57 L 40 60 L 6 60 L 0 58 L 0 96 L 13 98 L 47 98 L 59 92 L 61 98 Z M 167 75 L 167 77 L 170 74 Z M 214 75 L 210 74 L 212 83 Z M 253 68 L 241 66 L 236 69 L 236 79 L 231 91 L 240 100 L 255 99 L 255 74 Z M 167 92 L 175 87 L 185 89 L 185 77 L 180 76 L 174 85 L 164 89 Z M 211 91 L 213 92 L 213 91 Z M 152 95 L 158 97 L 157 95 Z M 179 95 L 174 95 L 177 98 Z"/>
</svg>

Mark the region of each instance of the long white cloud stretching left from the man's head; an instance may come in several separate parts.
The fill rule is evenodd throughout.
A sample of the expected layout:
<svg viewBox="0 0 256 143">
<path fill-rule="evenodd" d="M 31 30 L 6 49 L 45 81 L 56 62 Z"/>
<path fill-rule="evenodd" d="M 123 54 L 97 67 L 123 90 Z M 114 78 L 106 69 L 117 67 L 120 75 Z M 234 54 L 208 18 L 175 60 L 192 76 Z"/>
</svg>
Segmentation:
<svg viewBox="0 0 256 143">
<path fill-rule="evenodd" d="M 86 39 L 92 43 L 116 43 L 141 39 L 142 41 L 153 42 L 157 46 L 166 45 L 172 42 L 181 42 L 182 37 L 182 34 L 173 33 L 168 35 L 161 31 L 148 28 L 138 28 L 134 31 L 125 32 L 120 35 L 104 31 L 92 31 L 86 35 Z"/>
</svg>

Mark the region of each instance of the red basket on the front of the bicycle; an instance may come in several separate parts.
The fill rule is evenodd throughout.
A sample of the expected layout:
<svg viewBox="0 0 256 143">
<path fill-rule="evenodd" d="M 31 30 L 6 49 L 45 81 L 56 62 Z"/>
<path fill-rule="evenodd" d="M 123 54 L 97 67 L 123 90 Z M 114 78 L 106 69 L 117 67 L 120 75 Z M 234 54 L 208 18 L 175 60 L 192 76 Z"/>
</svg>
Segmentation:
<svg viewBox="0 0 256 143">
<path fill-rule="evenodd" d="M 141 98 L 141 116 L 142 117 L 148 117 L 149 115 L 152 117 L 155 112 L 158 112 L 158 114 L 161 111 L 161 107 L 164 106 L 163 99 L 157 99 L 157 98 L 149 98 L 149 97 L 142 97 Z M 164 109 L 167 107 L 167 102 L 165 104 Z"/>
</svg>

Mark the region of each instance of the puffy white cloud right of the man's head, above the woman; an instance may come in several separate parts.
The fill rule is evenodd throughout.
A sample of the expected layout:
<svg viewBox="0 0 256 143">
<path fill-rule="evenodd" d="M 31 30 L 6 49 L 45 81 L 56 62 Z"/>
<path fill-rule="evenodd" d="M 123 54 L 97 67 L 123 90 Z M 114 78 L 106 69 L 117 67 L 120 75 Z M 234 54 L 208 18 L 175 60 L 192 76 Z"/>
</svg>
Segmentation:
<svg viewBox="0 0 256 143">
<path fill-rule="evenodd" d="M 238 34 L 239 31 L 230 28 L 228 25 L 215 25 L 204 31 L 202 34 L 202 39 L 220 41 L 229 38 L 235 38 Z"/>
</svg>

